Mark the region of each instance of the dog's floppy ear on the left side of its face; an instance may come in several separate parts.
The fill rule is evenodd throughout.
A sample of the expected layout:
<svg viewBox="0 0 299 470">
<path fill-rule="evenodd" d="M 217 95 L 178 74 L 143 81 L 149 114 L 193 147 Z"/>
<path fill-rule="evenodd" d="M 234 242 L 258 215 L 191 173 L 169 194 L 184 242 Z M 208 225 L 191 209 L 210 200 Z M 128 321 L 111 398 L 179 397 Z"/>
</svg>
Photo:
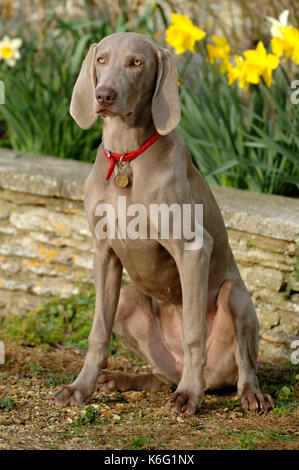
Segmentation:
<svg viewBox="0 0 299 470">
<path fill-rule="evenodd" d="M 82 63 L 71 99 L 71 116 L 82 129 L 89 129 L 98 118 L 94 111 L 96 88 L 95 51 L 97 46 L 98 44 L 94 43 L 89 48 L 88 54 Z"/>
</svg>

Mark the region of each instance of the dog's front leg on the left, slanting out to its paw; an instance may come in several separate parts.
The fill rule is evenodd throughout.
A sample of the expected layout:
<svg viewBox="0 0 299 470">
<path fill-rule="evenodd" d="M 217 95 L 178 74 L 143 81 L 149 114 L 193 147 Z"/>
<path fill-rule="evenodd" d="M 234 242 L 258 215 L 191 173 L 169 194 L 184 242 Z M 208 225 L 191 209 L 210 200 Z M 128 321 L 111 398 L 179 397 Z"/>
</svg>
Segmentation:
<svg viewBox="0 0 299 470">
<path fill-rule="evenodd" d="M 108 348 L 118 304 L 122 265 L 108 249 L 97 249 L 94 258 L 96 306 L 88 337 L 89 348 L 83 368 L 70 385 L 63 385 L 51 397 L 58 406 L 80 405 L 95 391 L 101 369 L 107 367 Z"/>
</svg>

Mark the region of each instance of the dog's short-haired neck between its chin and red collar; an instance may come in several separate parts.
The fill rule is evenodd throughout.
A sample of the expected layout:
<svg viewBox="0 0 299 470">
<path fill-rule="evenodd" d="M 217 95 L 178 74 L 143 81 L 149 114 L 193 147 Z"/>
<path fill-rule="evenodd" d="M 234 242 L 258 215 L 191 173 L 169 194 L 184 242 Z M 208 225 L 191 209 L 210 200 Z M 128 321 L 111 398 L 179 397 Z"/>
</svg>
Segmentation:
<svg viewBox="0 0 299 470">
<path fill-rule="evenodd" d="M 102 135 L 105 147 L 115 153 L 130 152 L 141 147 L 156 132 L 150 105 L 147 111 L 145 113 L 143 108 L 142 119 L 138 111 L 130 116 L 105 117 Z"/>
</svg>

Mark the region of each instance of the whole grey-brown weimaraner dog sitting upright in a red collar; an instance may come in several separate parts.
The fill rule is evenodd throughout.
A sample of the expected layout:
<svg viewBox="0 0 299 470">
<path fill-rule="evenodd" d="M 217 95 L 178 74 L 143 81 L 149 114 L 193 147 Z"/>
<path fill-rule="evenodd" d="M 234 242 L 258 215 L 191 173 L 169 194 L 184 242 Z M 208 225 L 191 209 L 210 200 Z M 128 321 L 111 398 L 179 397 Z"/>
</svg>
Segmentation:
<svg viewBox="0 0 299 470">
<path fill-rule="evenodd" d="M 92 44 L 70 112 L 83 129 L 103 119 L 103 143 L 85 183 L 96 306 L 83 368 L 51 402 L 80 405 L 97 389 L 157 391 L 177 384 L 167 406 L 192 415 L 205 390 L 237 385 L 244 409 L 273 408 L 257 379 L 258 321 L 222 215 L 174 130 L 180 103 L 170 52 L 137 33 L 116 33 Z M 113 157 L 129 155 L 157 135 L 138 158 Z M 117 181 L 119 174 L 124 183 Z M 195 217 L 195 205 L 201 204 L 200 248 L 185 249 L 184 237 L 97 237 L 97 207 L 116 209 L 119 196 L 148 213 L 150 204 L 179 204 L 189 205 Z M 123 267 L 134 284 L 121 289 Z M 105 370 L 112 329 L 152 373 Z"/>
</svg>

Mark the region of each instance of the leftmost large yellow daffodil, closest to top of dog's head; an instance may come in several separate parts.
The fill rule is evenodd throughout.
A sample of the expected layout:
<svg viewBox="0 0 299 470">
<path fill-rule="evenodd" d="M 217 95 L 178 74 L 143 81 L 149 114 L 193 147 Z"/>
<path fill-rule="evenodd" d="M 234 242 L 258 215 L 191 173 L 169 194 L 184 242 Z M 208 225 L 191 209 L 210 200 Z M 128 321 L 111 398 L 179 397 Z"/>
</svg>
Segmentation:
<svg viewBox="0 0 299 470">
<path fill-rule="evenodd" d="M 197 28 L 186 15 L 173 13 L 171 21 L 172 24 L 166 30 L 166 42 L 174 48 L 176 54 L 187 50 L 195 52 L 195 42 L 203 39 L 206 33 Z"/>
</svg>

